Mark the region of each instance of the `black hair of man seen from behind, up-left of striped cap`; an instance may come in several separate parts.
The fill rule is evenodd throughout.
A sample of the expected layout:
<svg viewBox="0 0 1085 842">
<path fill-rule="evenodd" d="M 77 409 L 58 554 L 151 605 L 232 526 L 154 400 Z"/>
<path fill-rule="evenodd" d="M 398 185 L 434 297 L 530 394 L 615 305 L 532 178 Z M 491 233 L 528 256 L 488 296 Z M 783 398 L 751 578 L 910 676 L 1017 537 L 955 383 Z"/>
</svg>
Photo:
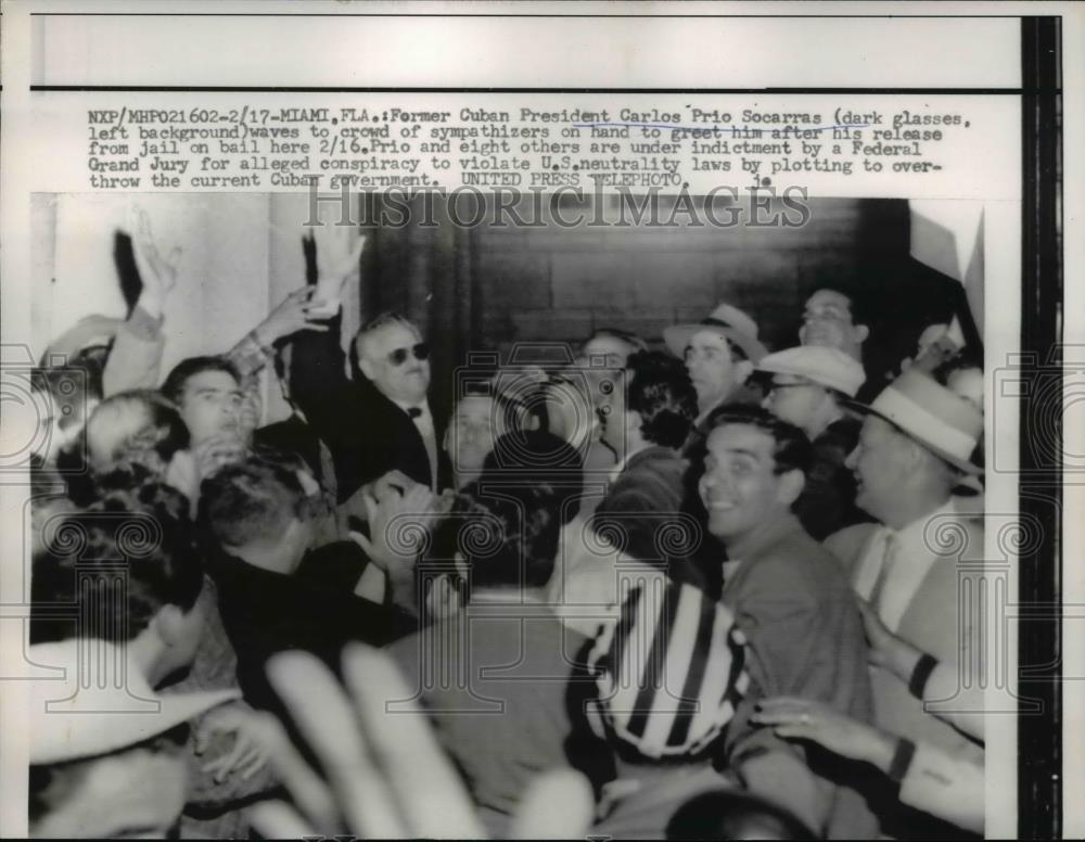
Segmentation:
<svg viewBox="0 0 1085 842">
<path fill-rule="evenodd" d="M 472 588 L 542 587 L 582 492 L 579 457 L 566 442 L 542 432 L 502 435 L 437 526 L 435 557 L 461 552 Z"/>
</svg>

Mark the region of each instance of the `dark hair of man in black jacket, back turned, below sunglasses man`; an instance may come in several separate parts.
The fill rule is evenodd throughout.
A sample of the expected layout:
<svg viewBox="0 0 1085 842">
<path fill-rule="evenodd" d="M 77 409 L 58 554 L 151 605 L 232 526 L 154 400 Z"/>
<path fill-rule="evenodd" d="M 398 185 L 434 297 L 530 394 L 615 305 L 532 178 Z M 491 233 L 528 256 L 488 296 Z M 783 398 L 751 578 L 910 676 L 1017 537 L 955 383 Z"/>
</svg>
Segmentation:
<svg viewBox="0 0 1085 842">
<path fill-rule="evenodd" d="M 298 470 L 301 460 L 264 452 L 216 471 L 200 487 L 201 525 L 227 547 L 282 535 L 292 519 L 307 520 L 315 505 Z"/>
</svg>

